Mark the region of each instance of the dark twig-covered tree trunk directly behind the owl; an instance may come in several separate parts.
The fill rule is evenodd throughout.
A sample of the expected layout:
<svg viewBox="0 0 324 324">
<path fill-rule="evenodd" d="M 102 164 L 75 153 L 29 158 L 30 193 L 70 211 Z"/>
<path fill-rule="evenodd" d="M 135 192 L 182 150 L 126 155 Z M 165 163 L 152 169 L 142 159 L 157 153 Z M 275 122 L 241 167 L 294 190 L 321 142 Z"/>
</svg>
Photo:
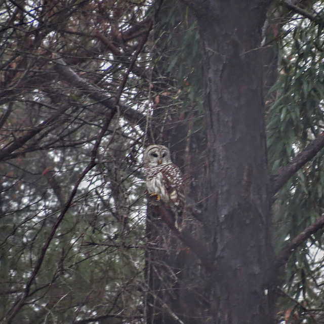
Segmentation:
<svg viewBox="0 0 324 324">
<path fill-rule="evenodd" d="M 171 12 L 175 12 L 173 23 L 170 23 Z M 206 143 L 201 132 L 191 135 L 197 108 L 187 106 L 181 109 L 179 103 L 175 102 L 174 97 L 183 90 L 183 85 L 176 82 L 168 68 L 172 54 L 178 56 L 179 44 L 183 42 L 186 29 L 194 22 L 195 17 L 188 12 L 188 7 L 174 0 L 165 0 L 155 16 L 154 53 L 157 63 L 152 72 L 152 92 L 156 100 L 152 123 L 157 127 L 149 128 L 147 134 L 147 144 L 152 144 L 153 139 L 155 143 L 170 147 L 174 163 L 184 174 L 186 195 L 190 197 L 191 205 L 204 197 L 205 183 L 201 181 L 201 165 L 205 162 Z M 162 53 L 166 49 L 168 54 L 164 56 Z M 197 70 L 197 73 L 201 73 L 198 67 Z M 161 125 L 163 129 L 159 127 Z M 195 224 L 190 212 L 183 216 L 183 227 L 197 234 L 201 224 Z M 150 205 L 147 209 L 146 235 L 152 247 L 146 253 L 149 291 L 145 307 L 147 324 L 172 324 L 181 320 L 186 324 L 200 323 L 201 318 L 206 317 L 207 308 L 202 298 L 204 271 L 201 271 L 200 261 Z"/>
</svg>

